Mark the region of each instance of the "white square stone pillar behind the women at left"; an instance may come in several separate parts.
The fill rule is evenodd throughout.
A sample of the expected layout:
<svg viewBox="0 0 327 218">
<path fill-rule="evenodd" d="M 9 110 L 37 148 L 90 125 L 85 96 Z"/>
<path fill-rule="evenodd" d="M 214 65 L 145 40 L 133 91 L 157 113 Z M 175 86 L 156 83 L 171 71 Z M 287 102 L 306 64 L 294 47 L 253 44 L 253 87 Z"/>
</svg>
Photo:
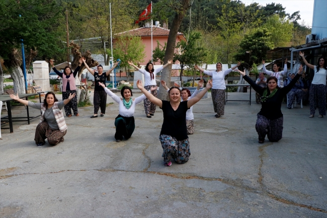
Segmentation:
<svg viewBox="0 0 327 218">
<path fill-rule="evenodd" d="M 50 91 L 49 64 L 45 60 L 33 62 L 34 81 L 42 91 Z"/>
</svg>

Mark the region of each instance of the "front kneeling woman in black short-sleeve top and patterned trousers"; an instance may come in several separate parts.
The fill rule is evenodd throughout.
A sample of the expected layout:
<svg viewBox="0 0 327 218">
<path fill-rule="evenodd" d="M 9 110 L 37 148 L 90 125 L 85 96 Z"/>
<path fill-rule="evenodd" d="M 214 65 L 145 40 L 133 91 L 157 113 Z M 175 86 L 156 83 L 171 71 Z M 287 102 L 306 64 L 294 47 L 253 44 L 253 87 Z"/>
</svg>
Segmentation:
<svg viewBox="0 0 327 218">
<path fill-rule="evenodd" d="M 211 87 L 212 81 L 209 80 L 205 89 L 198 95 L 188 101 L 181 102 L 181 90 L 173 86 L 168 92 L 170 101 L 162 101 L 148 93 L 140 80 L 137 81 L 137 88 L 141 90 L 150 102 L 162 109 L 163 123 L 159 139 L 163 149 L 163 164 L 166 166 L 172 165 L 172 159 L 175 159 L 178 164 L 184 164 L 189 160 L 191 153 L 186 128 L 186 112 L 200 101 Z"/>
</svg>

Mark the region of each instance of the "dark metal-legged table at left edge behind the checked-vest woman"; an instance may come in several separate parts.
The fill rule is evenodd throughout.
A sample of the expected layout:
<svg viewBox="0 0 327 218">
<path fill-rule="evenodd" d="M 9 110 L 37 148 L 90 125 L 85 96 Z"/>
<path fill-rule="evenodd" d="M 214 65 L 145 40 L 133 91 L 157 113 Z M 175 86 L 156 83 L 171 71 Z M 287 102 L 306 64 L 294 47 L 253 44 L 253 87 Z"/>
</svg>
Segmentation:
<svg viewBox="0 0 327 218">
<path fill-rule="evenodd" d="M 39 93 L 18 94 L 19 98 L 21 98 L 21 99 L 25 98 L 26 100 L 28 100 L 28 97 L 36 96 L 36 95 L 40 95 L 40 94 Z M 10 129 L 10 133 L 14 132 L 13 122 L 28 121 L 28 124 L 30 124 L 30 120 L 41 116 L 41 114 L 40 114 L 39 116 L 30 117 L 28 106 L 26 105 L 27 117 L 12 117 L 12 106 L 11 106 L 10 102 L 14 101 L 14 99 L 12 99 L 10 97 L 10 95 L 0 95 L 0 101 L 7 103 L 7 110 L 8 110 L 8 116 L 1 118 L 1 120 L 6 119 L 7 121 L 2 122 L 1 125 L 9 123 L 9 128 L 2 128 L 2 129 Z M 40 97 L 40 102 L 41 102 L 41 97 Z M 19 120 L 13 120 L 13 119 L 19 119 Z"/>
</svg>

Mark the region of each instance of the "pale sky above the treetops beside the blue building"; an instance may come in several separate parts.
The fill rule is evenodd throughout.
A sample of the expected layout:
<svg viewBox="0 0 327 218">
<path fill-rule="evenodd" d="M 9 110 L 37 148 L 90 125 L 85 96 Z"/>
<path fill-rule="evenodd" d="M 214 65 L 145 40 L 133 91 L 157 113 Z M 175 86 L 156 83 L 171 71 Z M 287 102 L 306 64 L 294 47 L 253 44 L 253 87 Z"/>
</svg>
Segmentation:
<svg viewBox="0 0 327 218">
<path fill-rule="evenodd" d="M 306 26 L 311 27 L 312 25 L 312 16 L 313 16 L 313 4 L 314 0 L 241 0 L 246 5 L 250 5 L 251 3 L 259 3 L 259 5 L 266 6 L 267 4 L 275 3 L 281 4 L 283 8 L 285 8 L 285 12 L 288 14 L 293 14 L 296 11 L 300 11 L 301 23 L 305 22 Z"/>
</svg>

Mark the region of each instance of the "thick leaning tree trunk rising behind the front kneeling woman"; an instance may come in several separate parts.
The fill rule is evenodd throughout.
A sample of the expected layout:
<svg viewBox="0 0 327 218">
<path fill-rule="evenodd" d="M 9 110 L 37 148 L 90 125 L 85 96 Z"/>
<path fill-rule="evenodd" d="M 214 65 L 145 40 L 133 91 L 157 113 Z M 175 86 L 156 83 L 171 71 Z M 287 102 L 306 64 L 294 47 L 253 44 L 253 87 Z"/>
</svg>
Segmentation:
<svg viewBox="0 0 327 218">
<path fill-rule="evenodd" d="M 186 11 L 189 7 L 190 0 L 182 1 L 182 8 L 175 14 L 175 18 L 172 23 L 172 27 L 169 32 L 167 47 L 165 52 L 165 58 L 163 59 L 163 65 L 165 65 L 168 60 L 173 59 L 174 51 L 176 47 L 176 38 L 177 33 L 180 28 L 181 22 L 186 14 Z M 169 64 L 167 67 L 162 69 L 161 80 L 165 81 L 166 84 L 170 84 L 172 77 L 172 64 Z M 161 83 L 159 86 L 158 99 L 166 100 L 167 99 L 167 91 L 162 87 Z"/>
</svg>

